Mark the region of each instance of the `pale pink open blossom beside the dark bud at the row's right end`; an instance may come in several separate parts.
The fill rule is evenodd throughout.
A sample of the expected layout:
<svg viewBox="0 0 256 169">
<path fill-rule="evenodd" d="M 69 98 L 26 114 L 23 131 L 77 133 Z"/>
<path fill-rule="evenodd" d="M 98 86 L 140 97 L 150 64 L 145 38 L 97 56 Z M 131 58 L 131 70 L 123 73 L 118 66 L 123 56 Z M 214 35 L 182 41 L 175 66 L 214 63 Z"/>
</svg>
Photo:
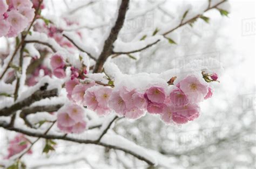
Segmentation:
<svg viewBox="0 0 256 169">
<path fill-rule="evenodd" d="M 180 89 L 187 96 L 190 103 L 198 103 L 204 100 L 208 92 L 208 84 L 200 81 L 196 76 L 190 75 L 179 82 Z"/>
</svg>

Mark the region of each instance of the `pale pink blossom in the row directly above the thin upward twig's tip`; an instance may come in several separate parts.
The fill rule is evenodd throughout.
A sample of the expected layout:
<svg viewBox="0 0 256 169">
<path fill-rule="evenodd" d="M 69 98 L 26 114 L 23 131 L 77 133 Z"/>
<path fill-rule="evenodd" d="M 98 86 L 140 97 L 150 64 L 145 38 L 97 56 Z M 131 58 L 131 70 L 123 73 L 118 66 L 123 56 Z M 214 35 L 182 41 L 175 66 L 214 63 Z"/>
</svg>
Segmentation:
<svg viewBox="0 0 256 169">
<path fill-rule="evenodd" d="M 109 99 L 109 107 L 116 111 L 118 115 L 124 116 L 126 112 L 126 105 L 123 98 L 118 91 L 113 91 Z"/>
</svg>

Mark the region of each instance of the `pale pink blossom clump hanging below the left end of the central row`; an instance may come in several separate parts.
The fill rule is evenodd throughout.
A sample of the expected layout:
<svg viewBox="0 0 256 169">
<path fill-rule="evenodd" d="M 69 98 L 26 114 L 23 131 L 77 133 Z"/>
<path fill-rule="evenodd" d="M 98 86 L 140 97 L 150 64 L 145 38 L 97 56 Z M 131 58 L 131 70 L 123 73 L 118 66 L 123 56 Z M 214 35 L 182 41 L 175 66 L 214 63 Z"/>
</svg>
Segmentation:
<svg viewBox="0 0 256 169">
<path fill-rule="evenodd" d="M 59 109 L 57 126 L 63 132 L 81 133 L 86 129 L 84 110 L 77 104 Z"/>
</svg>

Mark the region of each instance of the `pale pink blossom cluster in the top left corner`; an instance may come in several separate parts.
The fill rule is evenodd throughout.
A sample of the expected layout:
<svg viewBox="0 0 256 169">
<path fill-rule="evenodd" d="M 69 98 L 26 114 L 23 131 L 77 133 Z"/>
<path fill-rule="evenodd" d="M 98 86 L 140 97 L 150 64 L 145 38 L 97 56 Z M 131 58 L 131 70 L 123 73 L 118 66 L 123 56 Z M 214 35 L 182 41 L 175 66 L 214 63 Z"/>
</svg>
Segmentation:
<svg viewBox="0 0 256 169">
<path fill-rule="evenodd" d="M 35 16 L 30 0 L 0 1 L 0 37 L 17 37 Z"/>
</svg>

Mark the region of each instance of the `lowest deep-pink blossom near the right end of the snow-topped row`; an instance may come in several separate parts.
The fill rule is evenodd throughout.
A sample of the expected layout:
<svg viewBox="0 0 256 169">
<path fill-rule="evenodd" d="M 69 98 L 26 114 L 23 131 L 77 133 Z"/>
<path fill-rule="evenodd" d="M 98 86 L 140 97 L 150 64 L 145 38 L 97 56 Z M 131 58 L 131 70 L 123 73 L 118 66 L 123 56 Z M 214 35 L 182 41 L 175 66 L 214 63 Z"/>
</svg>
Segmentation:
<svg viewBox="0 0 256 169">
<path fill-rule="evenodd" d="M 184 124 L 193 121 L 199 116 L 200 108 L 197 104 L 188 104 L 184 107 L 176 107 L 172 113 L 172 119 L 178 124 Z"/>
</svg>

